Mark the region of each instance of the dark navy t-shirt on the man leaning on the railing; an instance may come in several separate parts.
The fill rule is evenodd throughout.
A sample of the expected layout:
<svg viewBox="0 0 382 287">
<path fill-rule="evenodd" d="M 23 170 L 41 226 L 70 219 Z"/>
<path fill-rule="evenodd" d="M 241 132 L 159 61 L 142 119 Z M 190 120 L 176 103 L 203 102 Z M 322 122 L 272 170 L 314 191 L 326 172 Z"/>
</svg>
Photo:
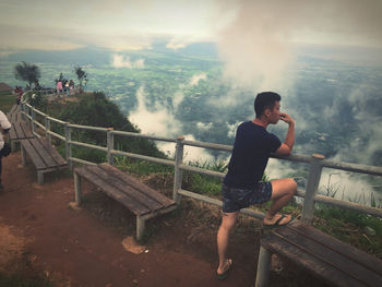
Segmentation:
<svg viewBox="0 0 382 287">
<path fill-rule="evenodd" d="M 237 131 L 232 155 L 224 184 L 229 188 L 253 189 L 261 180 L 271 153 L 282 142 L 265 128 L 252 121 L 242 122 Z"/>
</svg>

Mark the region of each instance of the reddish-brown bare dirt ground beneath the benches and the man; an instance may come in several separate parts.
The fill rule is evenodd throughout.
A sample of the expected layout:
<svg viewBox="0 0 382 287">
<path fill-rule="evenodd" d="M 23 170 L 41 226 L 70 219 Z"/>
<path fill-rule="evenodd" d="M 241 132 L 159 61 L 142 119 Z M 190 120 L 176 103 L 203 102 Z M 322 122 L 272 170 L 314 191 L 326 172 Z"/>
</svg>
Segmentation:
<svg viewBox="0 0 382 287">
<path fill-rule="evenodd" d="M 234 266 L 222 282 L 215 276 L 218 208 L 184 201 L 182 211 L 148 220 L 139 246 L 134 217 L 91 186 L 85 183 L 87 200 L 76 211 L 70 207 L 69 172 L 48 175 L 39 186 L 34 167 L 21 165 L 20 152 L 2 160 L 0 272 L 27 254 L 57 286 L 254 286 L 261 235 L 255 220 L 238 225 L 229 249 Z M 171 187 L 160 189 L 168 193 Z M 273 264 L 271 286 L 325 286 L 290 272 L 290 264 Z"/>
</svg>

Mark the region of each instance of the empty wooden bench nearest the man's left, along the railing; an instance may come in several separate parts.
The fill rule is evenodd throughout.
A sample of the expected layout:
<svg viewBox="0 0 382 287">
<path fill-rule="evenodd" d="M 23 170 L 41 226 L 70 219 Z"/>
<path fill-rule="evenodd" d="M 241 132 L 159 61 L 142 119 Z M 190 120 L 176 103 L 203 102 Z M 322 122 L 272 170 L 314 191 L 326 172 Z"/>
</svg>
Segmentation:
<svg viewBox="0 0 382 287">
<path fill-rule="evenodd" d="M 122 203 L 136 216 L 136 239 L 141 239 L 145 220 L 176 208 L 176 203 L 109 164 L 74 168 L 75 203 L 81 204 L 81 179 L 84 178 L 110 198 Z"/>
</svg>

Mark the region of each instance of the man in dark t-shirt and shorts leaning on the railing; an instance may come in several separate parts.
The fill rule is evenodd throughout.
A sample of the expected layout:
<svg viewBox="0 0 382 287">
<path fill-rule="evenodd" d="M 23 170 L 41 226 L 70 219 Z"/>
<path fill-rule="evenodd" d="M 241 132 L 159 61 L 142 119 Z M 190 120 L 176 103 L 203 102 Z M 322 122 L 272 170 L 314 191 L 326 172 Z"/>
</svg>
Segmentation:
<svg viewBox="0 0 382 287">
<path fill-rule="evenodd" d="M 272 201 L 265 214 L 264 226 L 284 226 L 290 220 L 278 211 L 286 205 L 297 192 L 294 179 L 277 179 L 262 182 L 271 153 L 288 155 L 295 143 L 295 121 L 280 112 L 280 96 L 273 92 L 258 94 L 254 100 L 255 119 L 241 123 L 236 133 L 228 172 L 222 187 L 223 219 L 217 232 L 219 265 L 217 277 L 224 279 L 232 264 L 226 255 L 229 234 L 235 226 L 241 208 L 252 204 Z M 284 143 L 266 131 L 268 124 L 278 120 L 288 123 Z"/>
</svg>

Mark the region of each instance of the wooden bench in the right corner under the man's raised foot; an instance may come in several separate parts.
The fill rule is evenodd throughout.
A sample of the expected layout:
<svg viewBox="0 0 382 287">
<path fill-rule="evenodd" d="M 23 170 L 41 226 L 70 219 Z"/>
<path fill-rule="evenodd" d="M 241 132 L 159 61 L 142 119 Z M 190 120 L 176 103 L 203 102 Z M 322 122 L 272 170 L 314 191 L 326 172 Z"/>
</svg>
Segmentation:
<svg viewBox="0 0 382 287">
<path fill-rule="evenodd" d="M 382 286 L 382 261 L 300 220 L 268 232 L 260 244 L 256 287 L 267 286 L 271 253 L 335 286 Z"/>
</svg>

